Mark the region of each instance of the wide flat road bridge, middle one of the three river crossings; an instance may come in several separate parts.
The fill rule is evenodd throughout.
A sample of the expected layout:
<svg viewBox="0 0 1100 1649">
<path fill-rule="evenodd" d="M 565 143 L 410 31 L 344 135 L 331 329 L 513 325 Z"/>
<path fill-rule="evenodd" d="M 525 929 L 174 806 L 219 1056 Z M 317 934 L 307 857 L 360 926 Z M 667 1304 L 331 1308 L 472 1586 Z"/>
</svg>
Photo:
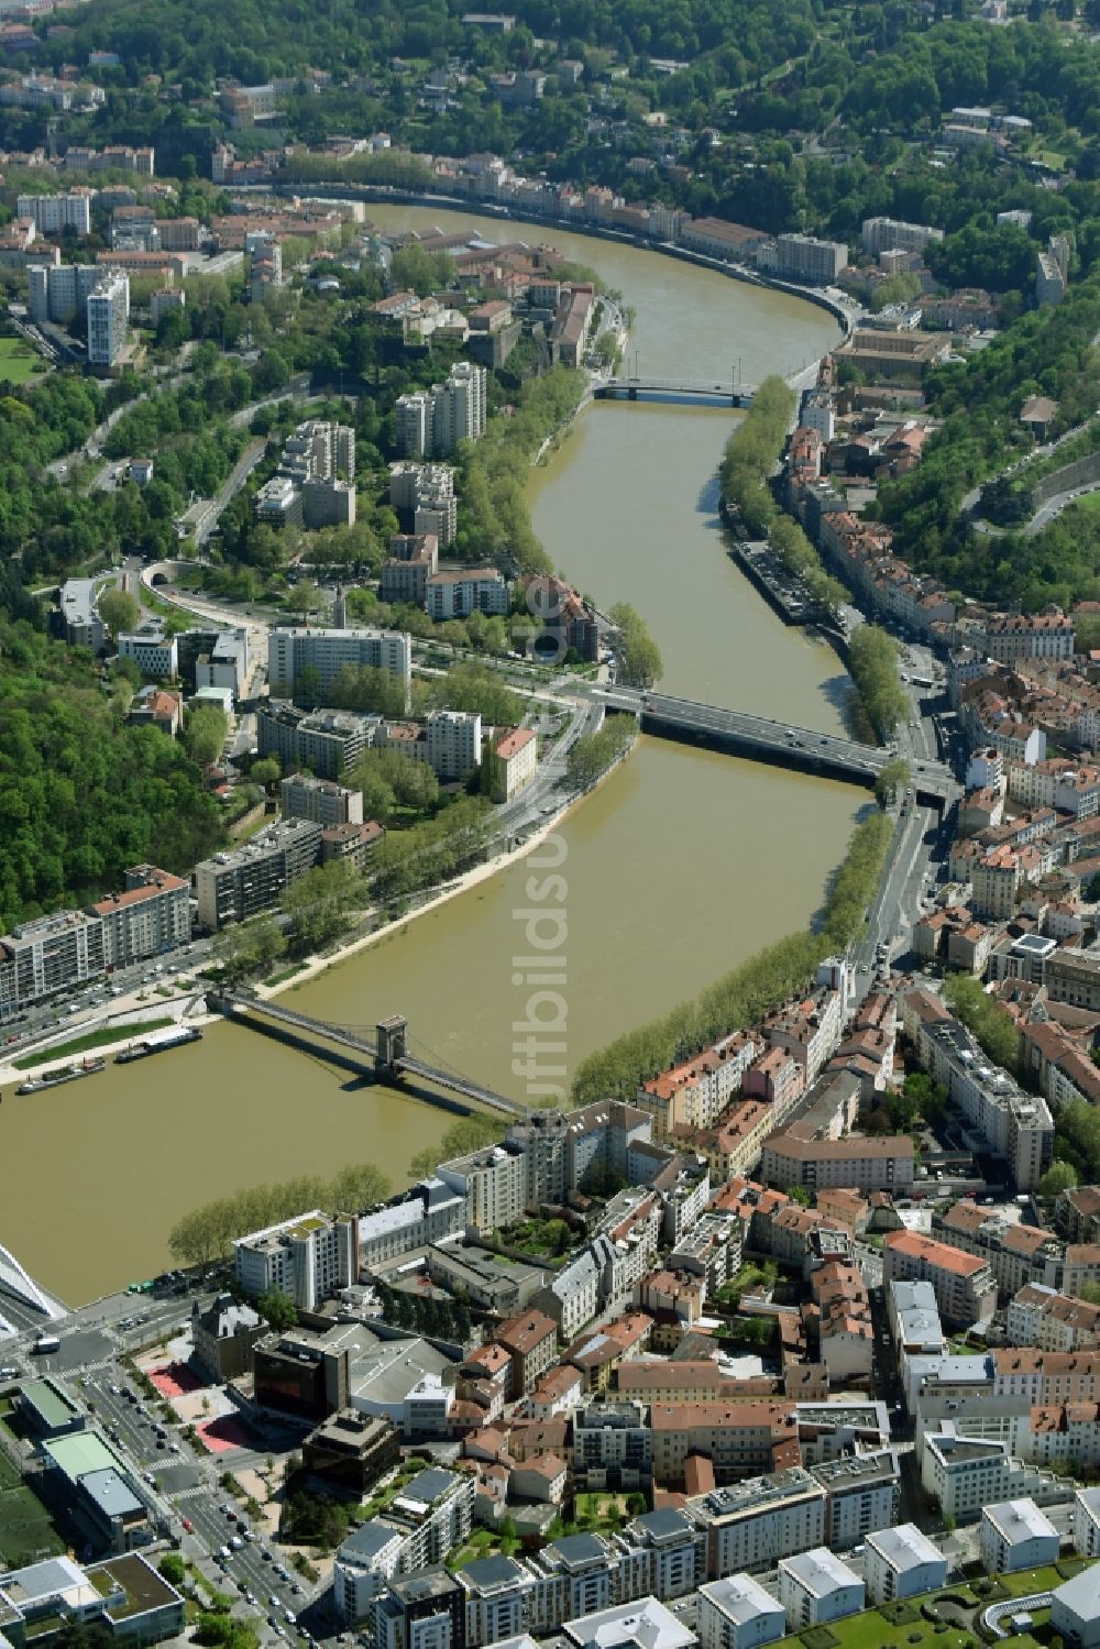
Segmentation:
<svg viewBox="0 0 1100 1649">
<path fill-rule="evenodd" d="M 843 778 L 867 790 L 894 760 L 891 750 L 861 744 L 811 727 L 792 727 L 747 711 L 698 704 L 666 693 L 638 693 L 633 688 L 594 688 L 594 696 L 613 711 L 638 717 L 643 732 L 683 744 L 706 744 L 773 767 L 793 767 L 826 778 Z M 952 770 L 942 762 L 912 763 L 912 785 L 922 800 L 947 808 L 960 795 Z"/>
</svg>

